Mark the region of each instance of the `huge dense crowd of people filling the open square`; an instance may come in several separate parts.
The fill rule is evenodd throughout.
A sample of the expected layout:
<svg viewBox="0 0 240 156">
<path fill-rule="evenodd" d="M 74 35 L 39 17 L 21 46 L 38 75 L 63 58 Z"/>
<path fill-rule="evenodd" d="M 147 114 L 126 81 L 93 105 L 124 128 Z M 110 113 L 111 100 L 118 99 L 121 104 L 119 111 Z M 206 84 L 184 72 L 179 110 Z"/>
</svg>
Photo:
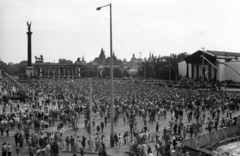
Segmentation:
<svg viewBox="0 0 240 156">
<path fill-rule="evenodd" d="M 12 87 L 7 87 L 11 86 L 11 82 L 3 81 L 2 90 L 11 92 Z M 86 127 L 91 124 L 96 132 L 92 143 L 85 136 L 63 135 L 65 126 L 70 125 L 75 131 L 79 128 L 79 121 L 84 118 L 84 110 L 89 104 L 90 84 L 93 90 L 93 120 L 92 123 L 86 120 Z M 14 135 L 16 153 L 21 153 L 25 144 L 30 156 L 35 153 L 58 155 L 63 149 L 84 155 L 84 150 L 90 145 L 99 155 L 107 154 L 108 145 L 129 155 L 151 156 L 155 152 L 157 156 L 170 156 L 172 150 L 187 155 L 185 148 L 179 145 L 180 141 L 197 136 L 204 129 L 211 132 L 212 129 L 231 126 L 239 121 L 239 117 L 232 116 L 240 107 L 237 92 L 115 80 L 114 124 L 117 126 L 121 120 L 129 125 L 129 130 L 105 136 L 104 127 L 111 117 L 109 80 L 39 79 L 23 85 L 28 88 L 29 95 L 24 109 L 20 106 L 23 103 L 1 100 L 0 130 L 1 135 L 6 133 L 9 136 L 10 130 L 17 129 Z M 184 117 L 187 117 L 187 122 Z M 168 126 L 161 131 L 161 122 L 166 120 Z M 150 125 L 155 128 L 151 129 Z M 56 132 L 47 131 L 52 126 L 57 126 Z M 150 146 L 153 142 L 154 148 Z M 10 153 L 12 147 L 8 147 L 9 144 L 4 143 L 2 152 Z"/>
</svg>

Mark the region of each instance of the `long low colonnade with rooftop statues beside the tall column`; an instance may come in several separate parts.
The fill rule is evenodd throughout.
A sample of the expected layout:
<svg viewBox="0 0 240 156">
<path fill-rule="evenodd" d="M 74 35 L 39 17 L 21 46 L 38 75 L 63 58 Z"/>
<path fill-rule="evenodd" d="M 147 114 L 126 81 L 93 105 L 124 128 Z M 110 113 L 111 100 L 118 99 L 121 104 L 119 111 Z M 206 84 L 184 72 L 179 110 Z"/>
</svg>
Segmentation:
<svg viewBox="0 0 240 156">
<path fill-rule="evenodd" d="M 43 57 L 36 57 L 34 73 L 40 78 L 80 78 L 82 62 L 78 58 L 75 63 L 44 63 Z"/>
</svg>

